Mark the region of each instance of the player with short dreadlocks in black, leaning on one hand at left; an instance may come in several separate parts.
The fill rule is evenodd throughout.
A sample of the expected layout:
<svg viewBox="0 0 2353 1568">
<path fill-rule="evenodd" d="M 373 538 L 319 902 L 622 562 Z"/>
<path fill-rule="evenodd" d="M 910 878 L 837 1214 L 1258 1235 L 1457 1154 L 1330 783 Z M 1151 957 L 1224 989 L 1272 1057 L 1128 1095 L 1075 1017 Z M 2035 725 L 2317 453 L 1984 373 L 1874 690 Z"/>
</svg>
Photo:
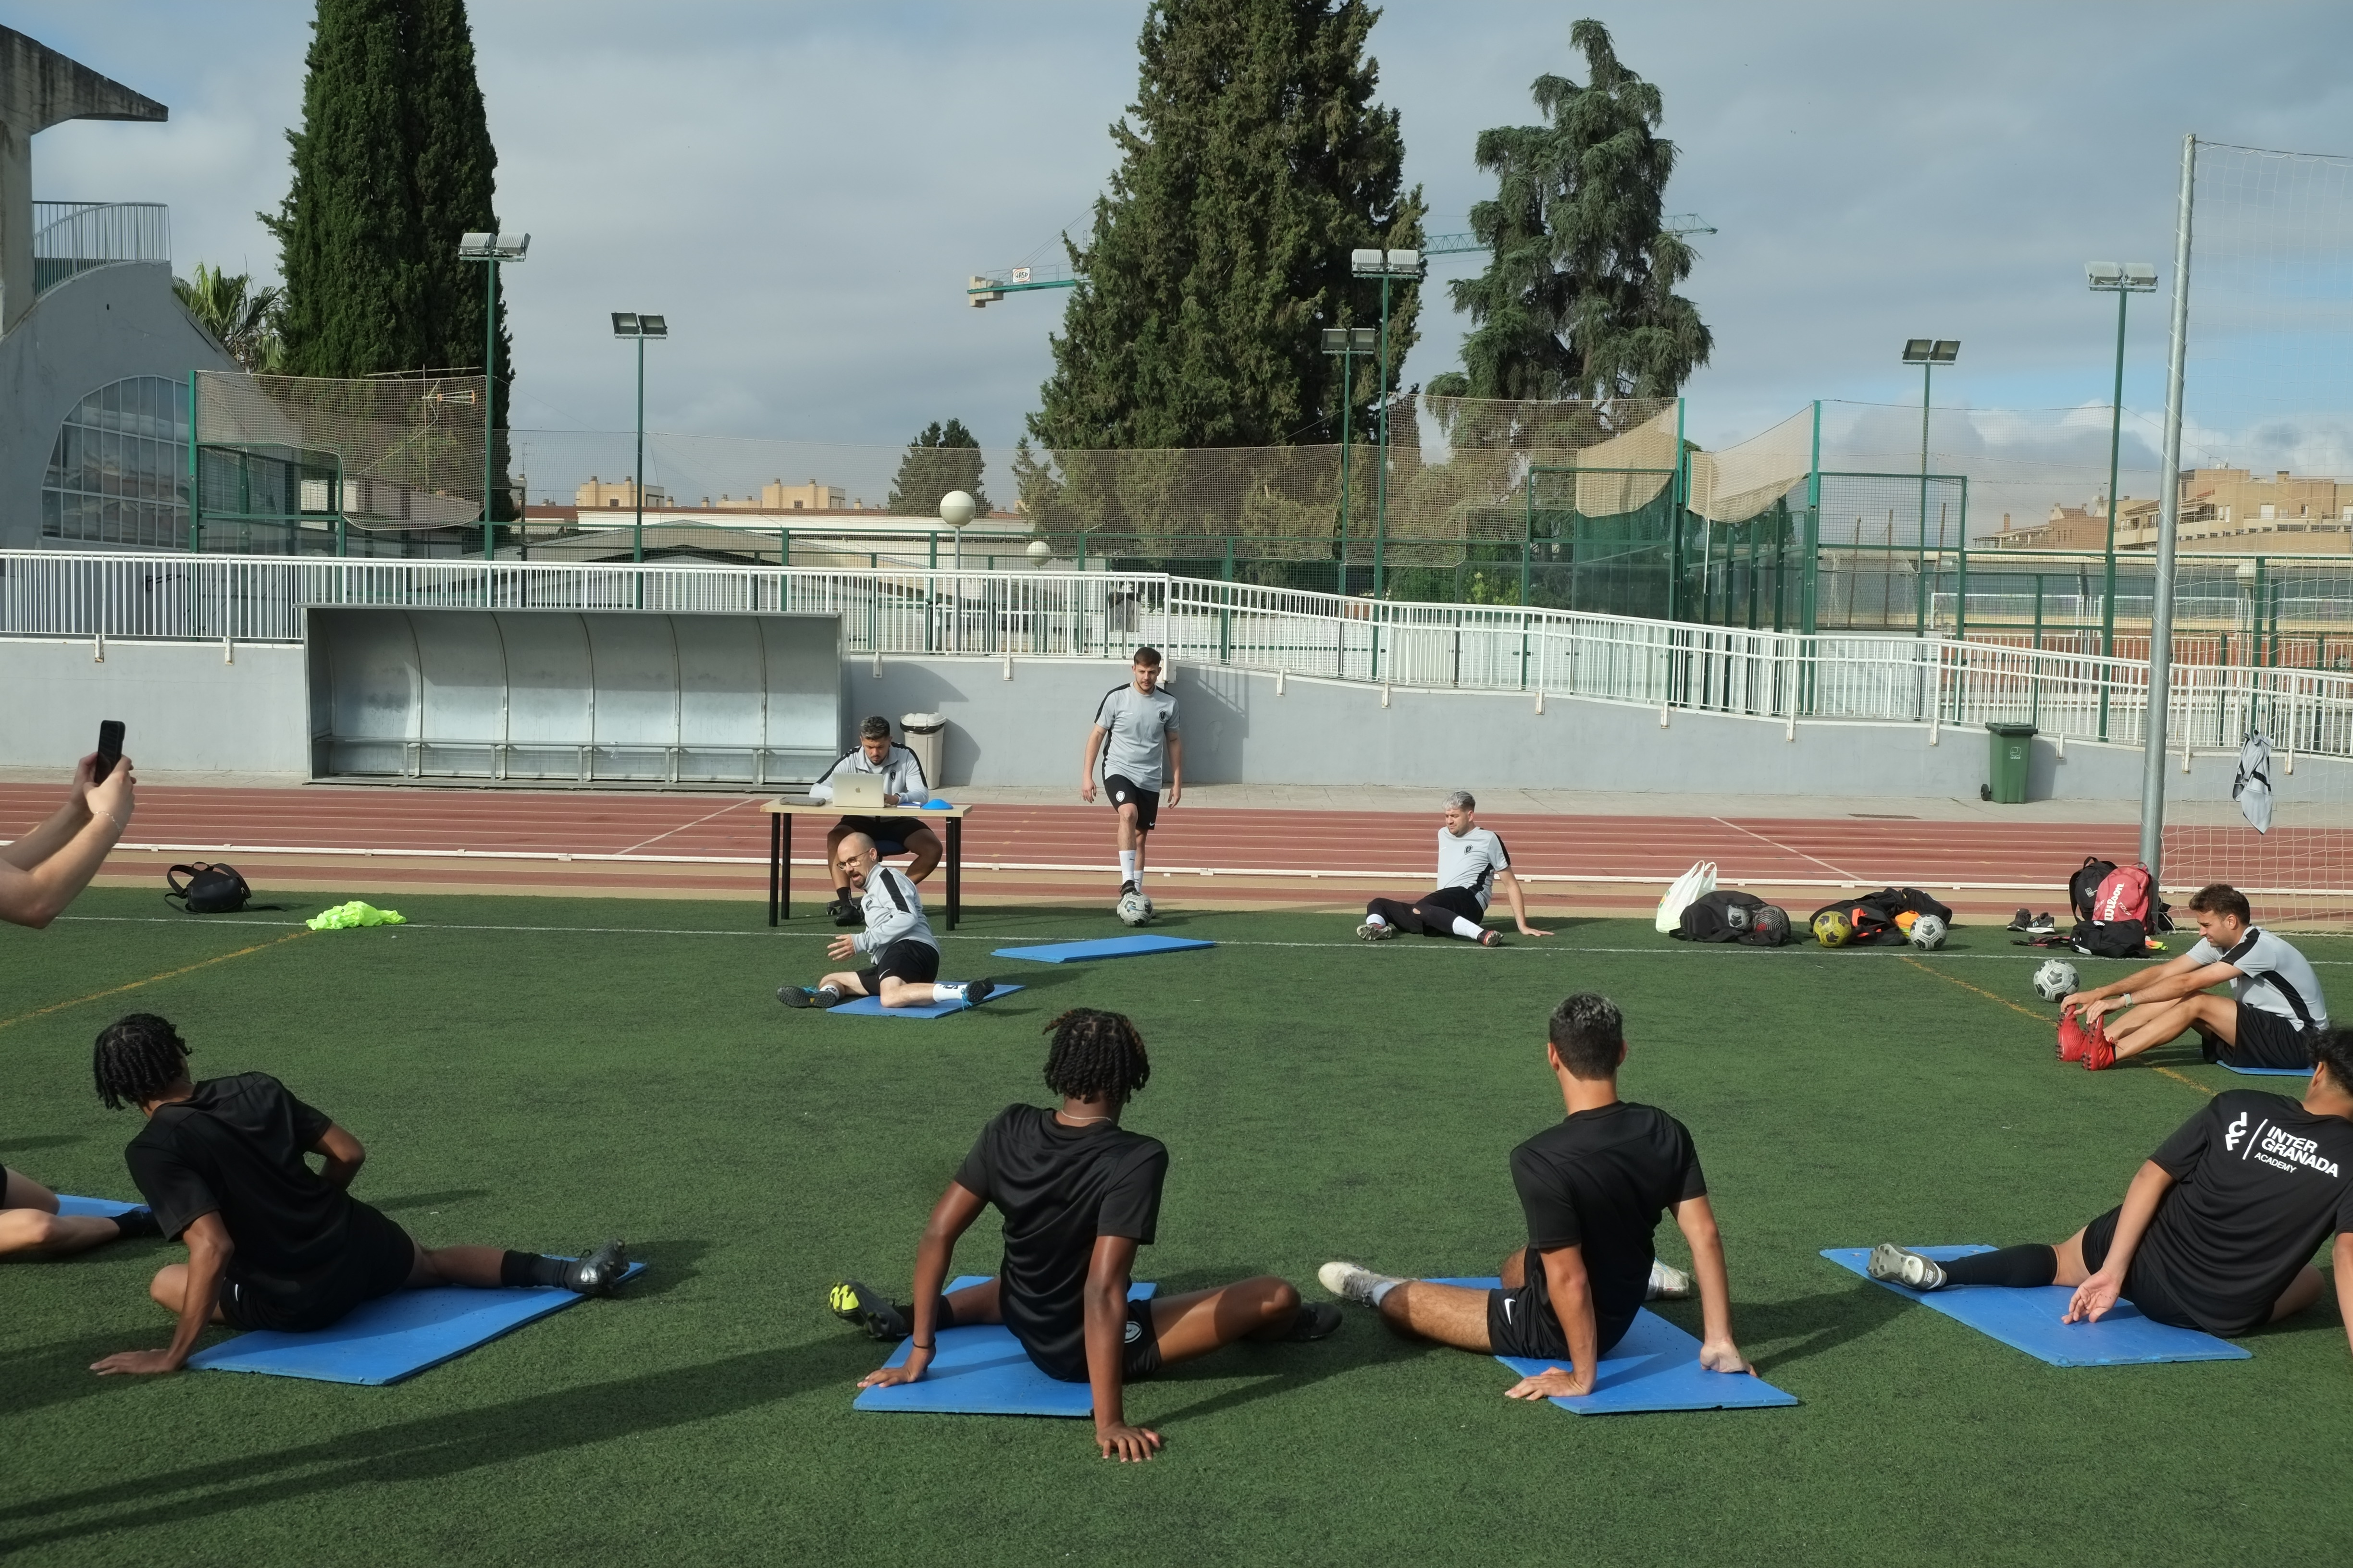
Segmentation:
<svg viewBox="0 0 2353 1568">
<path fill-rule="evenodd" d="M 106 1025 L 92 1072 L 108 1110 L 146 1112 L 125 1161 L 162 1234 L 188 1246 L 188 1262 L 158 1269 L 148 1284 L 148 1295 L 179 1314 L 169 1349 L 125 1349 L 94 1373 L 176 1373 L 207 1324 L 304 1333 L 393 1291 L 562 1286 L 609 1295 L 628 1272 L 619 1241 L 581 1260 L 419 1246 L 351 1197 L 367 1159 L 358 1138 L 266 1072 L 191 1081 L 188 1046 L 155 1013 Z M 318 1154 L 320 1168 L 304 1154 Z"/>
</svg>

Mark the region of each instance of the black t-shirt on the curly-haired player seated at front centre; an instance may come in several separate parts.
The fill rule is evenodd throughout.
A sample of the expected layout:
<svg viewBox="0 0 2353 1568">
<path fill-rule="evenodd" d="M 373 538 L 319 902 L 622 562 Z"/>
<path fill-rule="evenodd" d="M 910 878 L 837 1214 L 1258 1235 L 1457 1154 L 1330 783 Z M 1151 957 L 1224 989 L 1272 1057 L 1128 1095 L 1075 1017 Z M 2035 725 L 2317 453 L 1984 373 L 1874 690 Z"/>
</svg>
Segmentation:
<svg viewBox="0 0 2353 1568">
<path fill-rule="evenodd" d="M 1169 1152 L 1113 1124 L 1064 1126 L 1038 1105 L 1007 1105 L 981 1128 L 955 1185 L 1005 1215 L 998 1302 L 1031 1361 L 1054 1378 L 1087 1375 L 1087 1262 L 1096 1237 L 1153 1244 Z"/>
</svg>

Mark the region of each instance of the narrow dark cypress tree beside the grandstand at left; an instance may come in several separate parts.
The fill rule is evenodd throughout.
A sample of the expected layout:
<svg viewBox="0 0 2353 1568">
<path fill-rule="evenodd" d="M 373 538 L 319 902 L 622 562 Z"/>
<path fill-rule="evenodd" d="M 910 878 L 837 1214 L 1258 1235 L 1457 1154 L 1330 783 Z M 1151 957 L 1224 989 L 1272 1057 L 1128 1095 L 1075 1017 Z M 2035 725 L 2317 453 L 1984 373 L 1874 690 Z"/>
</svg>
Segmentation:
<svg viewBox="0 0 2353 1568">
<path fill-rule="evenodd" d="M 482 266 L 496 230 L 482 87 L 464 0 L 318 0 L 294 179 L 278 214 L 287 369 L 374 376 L 482 364 Z M 496 301 L 506 425 L 506 301 Z"/>
</svg>

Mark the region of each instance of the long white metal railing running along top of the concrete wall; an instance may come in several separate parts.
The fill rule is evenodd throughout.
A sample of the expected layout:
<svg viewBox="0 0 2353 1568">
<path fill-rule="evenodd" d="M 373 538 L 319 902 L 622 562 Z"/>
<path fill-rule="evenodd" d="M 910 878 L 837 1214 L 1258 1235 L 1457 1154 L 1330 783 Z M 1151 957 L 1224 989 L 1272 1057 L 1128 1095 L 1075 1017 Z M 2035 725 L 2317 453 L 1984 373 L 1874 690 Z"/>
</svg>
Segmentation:
<svg viewBox="0 0 2353 1568">
<path fill-rule="evenodd" d="M 264 555 L 0 552 L 0 635 L 301 642 L 311 607 L 840 616 L 842 649 L 1125 658 L 1784 722 L 2033 724 L 2139 745 L 2148 665 L 1861 632 L 1748 632 L 1497 604 L 1398 604 L 1118 571 L 922 571 Z M 2353 675 L 2172 670 L 2167 741 L 2353 757 Z"/>
</svg>

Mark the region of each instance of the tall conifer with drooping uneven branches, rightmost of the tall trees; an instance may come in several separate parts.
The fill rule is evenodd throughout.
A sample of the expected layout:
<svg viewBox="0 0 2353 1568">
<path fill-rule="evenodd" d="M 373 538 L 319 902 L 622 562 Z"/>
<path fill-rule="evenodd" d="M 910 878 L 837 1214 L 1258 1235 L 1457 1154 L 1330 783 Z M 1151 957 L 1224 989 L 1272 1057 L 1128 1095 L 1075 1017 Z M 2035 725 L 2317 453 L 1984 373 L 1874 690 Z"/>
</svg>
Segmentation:
<svg viewBox="0 0 2353 1568">
<path fill-rule="evenodd" d="M 1480 132 L 1478 167 L 1497 195 L 1471 209 L 1492 261 L 1452 284 L 1468 310 L 1464 369 L 1433 397 L 1673 397 L 1713 339 L 1675 284 L 1692 247 L 1661 223 L 1675 143 L 1654 132 L 1664 101 L 1619 63 L 1593 19 L 1569 28 L 1588 82 L 1539 75 L 1551 125 Z"/>
</svg>

